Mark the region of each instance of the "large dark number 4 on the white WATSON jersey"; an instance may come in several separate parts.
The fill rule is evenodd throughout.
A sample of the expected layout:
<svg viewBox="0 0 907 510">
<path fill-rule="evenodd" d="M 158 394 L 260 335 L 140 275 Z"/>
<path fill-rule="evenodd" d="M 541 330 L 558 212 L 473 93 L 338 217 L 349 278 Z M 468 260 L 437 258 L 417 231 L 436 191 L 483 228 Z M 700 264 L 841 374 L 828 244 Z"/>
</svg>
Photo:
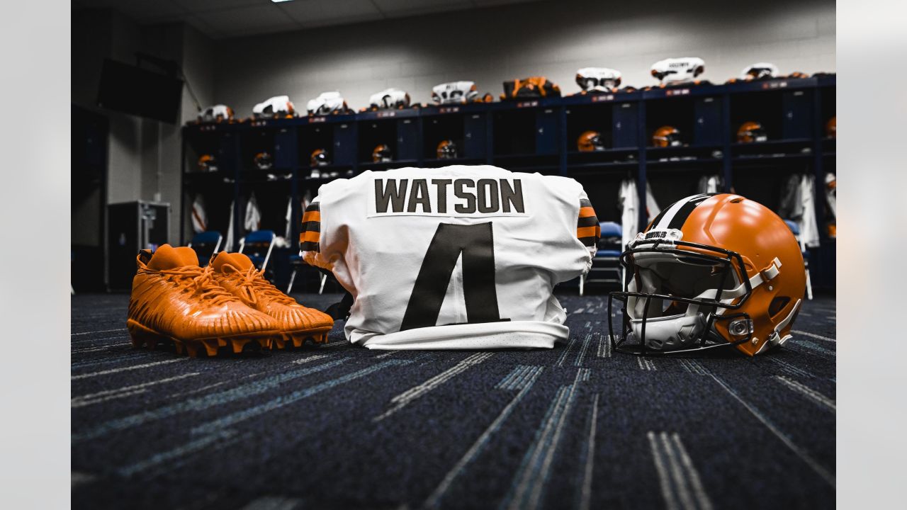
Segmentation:
<svg viewBox="0 0 907 510">
<path fill-rule="evenodd" d="M 494 288 L 494 238 L 491 221 L 474 225 L 441 223 L 425 252 L 400 330 L 434 326 L 444 304 L 456 260 L 463 253 L 463 298 L 466 322 L 497 322 Z"/>
</svg>

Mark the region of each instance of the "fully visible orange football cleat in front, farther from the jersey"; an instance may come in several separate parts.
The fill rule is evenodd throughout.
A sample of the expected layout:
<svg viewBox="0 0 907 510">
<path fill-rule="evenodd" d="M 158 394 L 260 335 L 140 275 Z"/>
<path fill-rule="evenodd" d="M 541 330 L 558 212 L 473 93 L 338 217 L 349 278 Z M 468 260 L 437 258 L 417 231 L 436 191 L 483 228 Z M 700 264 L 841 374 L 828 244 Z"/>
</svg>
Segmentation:
<svg viewBox="0 0 907 510">
<path fill-rule="evenodd" d="M 214 356 L 219 348 L 270 348 L 280 337 L 278 322 L 220 287 L 191 248 L 142 250 L 136 263 L 126 321 L 133 346 L 172 341 L 180 354 Z"/>
</svg>

